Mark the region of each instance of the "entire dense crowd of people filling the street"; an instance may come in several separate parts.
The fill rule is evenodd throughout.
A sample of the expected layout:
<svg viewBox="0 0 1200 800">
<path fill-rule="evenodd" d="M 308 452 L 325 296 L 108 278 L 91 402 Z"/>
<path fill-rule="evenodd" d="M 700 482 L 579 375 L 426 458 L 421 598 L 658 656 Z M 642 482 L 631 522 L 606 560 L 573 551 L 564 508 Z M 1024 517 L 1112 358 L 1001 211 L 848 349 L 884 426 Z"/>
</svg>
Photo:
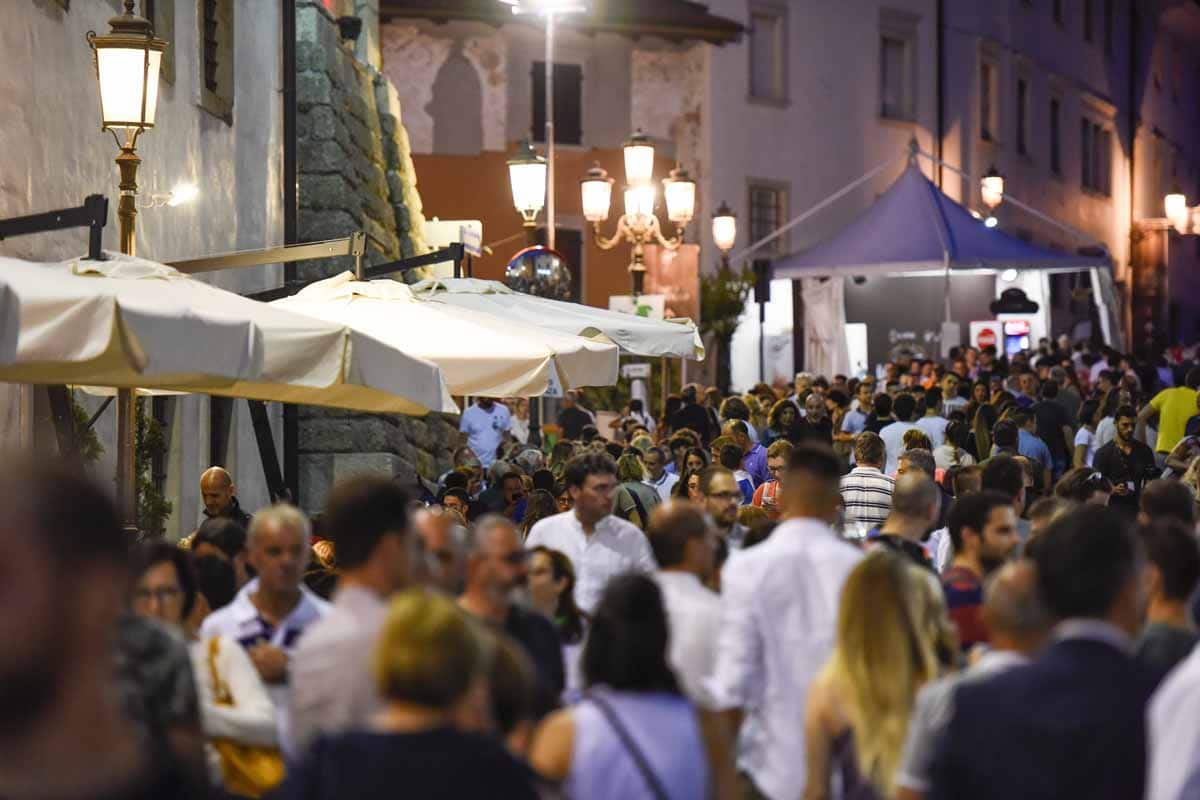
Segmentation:
<svg viewBox="0 0 1200 800">
<path fill-rule="evenodd" d="M 1200 366 L 798 374 L 131 546 L 0 475 L 4 798 L 1200 796 Z M 514 405 L 514 408 L 509 408 Z"/>
</svg>

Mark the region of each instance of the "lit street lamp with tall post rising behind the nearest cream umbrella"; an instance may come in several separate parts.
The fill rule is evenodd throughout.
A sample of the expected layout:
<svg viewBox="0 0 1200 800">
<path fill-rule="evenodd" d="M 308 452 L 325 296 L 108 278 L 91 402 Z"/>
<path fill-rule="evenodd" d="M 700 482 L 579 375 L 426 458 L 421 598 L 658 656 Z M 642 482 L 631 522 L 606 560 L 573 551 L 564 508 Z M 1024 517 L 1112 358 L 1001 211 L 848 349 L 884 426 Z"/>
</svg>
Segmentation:
<svg viewBox="0 0 1200 800">
<path fill-rule="evenodd" d="M 116 207 L 121 252 L 137 249 L 138 137 L 154 127 L 158 107 L 158 68 L 167 42 L 155 38 L 150 22 L 133 13 L 133 0 L 125 0 L 125 13 L 108 20 L 109 32 L 88 32 L 100 84 L 101 130 L 113 134 L 120 155 L 121 198 Z M 118 136 L 118 131 L 121 136 Z M 137 405 L 132 389 L 116 392 L 116 498 L 126 528 L 137 528 L 134 474 L 134 429 Z"/>
</svg>

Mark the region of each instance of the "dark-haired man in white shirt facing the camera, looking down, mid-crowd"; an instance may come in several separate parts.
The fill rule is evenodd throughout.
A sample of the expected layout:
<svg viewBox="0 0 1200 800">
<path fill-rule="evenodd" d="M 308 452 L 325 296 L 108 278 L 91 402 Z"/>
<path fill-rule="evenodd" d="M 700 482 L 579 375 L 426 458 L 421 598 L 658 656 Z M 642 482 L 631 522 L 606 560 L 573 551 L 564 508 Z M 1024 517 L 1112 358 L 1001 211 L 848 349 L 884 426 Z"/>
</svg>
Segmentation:
<svg viewBox="0 0 1200 800">
<path fill-rule="evenodd" d="M 590 613 L 608 579 L 622 572 L 658 569 L 650 545 L 637 525 L 612 513 L 617 497 L 617 464 L 604 453 L 576 456 L 566 463 L 563 482 L 575 506 L 533 527 L 526 549 L 560 551 L 575 567 L 575 602 Z"/>
</svg>

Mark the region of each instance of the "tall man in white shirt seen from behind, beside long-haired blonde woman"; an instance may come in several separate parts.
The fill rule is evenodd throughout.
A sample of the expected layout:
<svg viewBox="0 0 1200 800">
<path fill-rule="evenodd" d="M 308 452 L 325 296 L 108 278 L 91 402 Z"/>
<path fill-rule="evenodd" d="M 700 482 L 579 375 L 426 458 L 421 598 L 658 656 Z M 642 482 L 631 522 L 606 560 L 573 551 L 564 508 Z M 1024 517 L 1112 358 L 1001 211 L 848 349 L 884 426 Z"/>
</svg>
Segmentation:
<svg viewBox="0 0 1200 800">
<path fill-rule="evenodd" d="M 757 734 L 739 769 L 744 796 L 791 800 L 804 792 L 804 706 L 833 649 L 838 597 L 862 553 L 829 528 L 841 505 L 841 463 L 828 447 L 792 451 L 784 476 L 784 522 L 767 541 L 730 559 L 721 573 L 716 709 L 736 732 Z"/>
</svg>

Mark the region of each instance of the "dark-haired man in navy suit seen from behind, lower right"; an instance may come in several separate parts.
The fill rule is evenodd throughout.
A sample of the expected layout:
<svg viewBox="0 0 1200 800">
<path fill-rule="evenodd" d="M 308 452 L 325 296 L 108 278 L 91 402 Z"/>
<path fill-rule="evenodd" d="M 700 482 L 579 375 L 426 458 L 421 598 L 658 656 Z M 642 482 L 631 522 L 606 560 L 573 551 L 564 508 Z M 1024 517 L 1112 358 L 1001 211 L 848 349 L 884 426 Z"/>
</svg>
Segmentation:
<svg viewBox="0 0 1200 800">
<path fill-rule="evenodd" d="M 1128 523 L 1084 506 L 1034 552 L 1058 620 L 1027 667 L 965 685 L 932 766 L 931 800 L 1136 800 L 1146 777 L 1152 676 L 1134 661 L 1141 553 Z"/>
</svg>

